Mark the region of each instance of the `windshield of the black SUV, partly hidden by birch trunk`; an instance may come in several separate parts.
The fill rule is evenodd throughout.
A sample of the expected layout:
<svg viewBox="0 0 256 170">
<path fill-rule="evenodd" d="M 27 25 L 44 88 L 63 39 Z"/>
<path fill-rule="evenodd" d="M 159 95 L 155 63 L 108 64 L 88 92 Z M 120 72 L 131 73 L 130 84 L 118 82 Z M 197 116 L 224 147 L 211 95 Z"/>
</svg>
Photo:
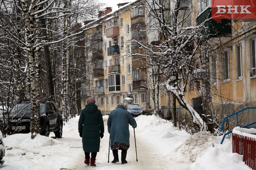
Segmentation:
<svg viewBox="0 0 256 170">
<path fill-rule="evenodd" d="M 40 103 L 40 114 L 43 114 L 43 113 L 45 113 L 45 104 Z M 16 104 L 10 110 L 10 114 L 30 116 L 30 104 L 28 103 Z"/>
</svg>

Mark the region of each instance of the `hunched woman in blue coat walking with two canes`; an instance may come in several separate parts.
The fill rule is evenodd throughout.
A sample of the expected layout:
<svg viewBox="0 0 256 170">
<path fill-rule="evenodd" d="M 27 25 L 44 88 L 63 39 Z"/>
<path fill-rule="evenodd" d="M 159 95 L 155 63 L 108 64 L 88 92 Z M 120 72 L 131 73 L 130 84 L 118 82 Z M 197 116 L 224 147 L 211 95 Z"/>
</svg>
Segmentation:
<svg viewBox="0 0 256 170">
<path fill-rule="evenodd" d="M 111 139 L 110 146 L 114 156 L 112 163 L 119 162 L 118 150 L 122 150 L 122 164 L 127 163 L 126 155 L 127 150 L 130 147 L 129 124 L 133 128 L 137 127 L 135 119 L 127 110 L 125 110 L 124 104 L 119 103 L 118 107 L 110 112 L 110 116 L 107 119 L 107 130 L 110 133 Z"/>
</svg>

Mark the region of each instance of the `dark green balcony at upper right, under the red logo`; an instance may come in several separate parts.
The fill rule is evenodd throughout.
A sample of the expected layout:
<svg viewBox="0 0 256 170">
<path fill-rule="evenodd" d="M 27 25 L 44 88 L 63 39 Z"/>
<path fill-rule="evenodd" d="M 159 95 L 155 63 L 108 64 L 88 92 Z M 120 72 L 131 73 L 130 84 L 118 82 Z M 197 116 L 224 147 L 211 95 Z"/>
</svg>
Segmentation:
<svg viewBox="0 0 256 170">
<path fill-rule="evenodd" d="M 201 13 L 196 18 L 197 25 L 203 23 L 206 19 L 209 19 L 212 17 L 212 8 L 207 8 L 204 10 L 203 13 Z M 202 33 L 206 34 L 210 37 L 215 37 L 221 34 L 231 34 L 231 20 L 228 19 L 222 19 L 221 23 L 218 23 L 215 20 L 209 20 L 207 21 L 204 26 L 205 29 L 202 29 Z"/>
</svg>

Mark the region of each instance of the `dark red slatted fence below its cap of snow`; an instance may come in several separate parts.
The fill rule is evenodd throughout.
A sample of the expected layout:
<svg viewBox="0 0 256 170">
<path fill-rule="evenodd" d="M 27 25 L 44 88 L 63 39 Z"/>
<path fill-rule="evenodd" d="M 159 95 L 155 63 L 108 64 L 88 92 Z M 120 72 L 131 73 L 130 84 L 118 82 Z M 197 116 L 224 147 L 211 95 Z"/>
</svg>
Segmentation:
<svg viewBox="0 0 256 170">
<path fill-rule="evenodd" d="M 232 133 L 232 146 L 233 153 L 243 155 L 243 161 L 246 163 L 246 165 L 251 167 L 253 170 L 256 170 L 256 139 Z"/>
</svg>

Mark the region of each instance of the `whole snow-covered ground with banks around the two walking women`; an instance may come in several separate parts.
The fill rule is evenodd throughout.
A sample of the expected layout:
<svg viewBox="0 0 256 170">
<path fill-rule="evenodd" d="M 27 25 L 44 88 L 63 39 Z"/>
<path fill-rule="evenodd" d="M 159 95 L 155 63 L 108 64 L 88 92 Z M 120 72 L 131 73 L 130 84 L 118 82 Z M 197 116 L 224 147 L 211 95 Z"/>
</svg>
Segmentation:
<svg viewBox="0 0 256 170">
<path fill-rule="evenodd" d="M 154 115 L 136 118 L 136 150 L 133 128 L 130 129 L 128 164 L 108 163 L 109 134 L 104 116 L 105 133 L 94 170 L 250 170 L 243 157 L 232 153 L 232 141 L 206 132 L 190 135 Z M 78 119 L 71 119 L 63 127 L 63 138 L 54 139 L 31 134 L 13 134 L 3 139 L 5 163 L 1 170 L 83 170 L 91 168 L 84 164 L 84 151 L 78 134 Z M 7 149 L 10 150 L 7 150 Z M 12 149 L 11 149 L 12 148 Z M 120 151 L 119 151 L 120 157 Z M 110 162 L 113 160 L 110 150 Z"/>
</svg>

